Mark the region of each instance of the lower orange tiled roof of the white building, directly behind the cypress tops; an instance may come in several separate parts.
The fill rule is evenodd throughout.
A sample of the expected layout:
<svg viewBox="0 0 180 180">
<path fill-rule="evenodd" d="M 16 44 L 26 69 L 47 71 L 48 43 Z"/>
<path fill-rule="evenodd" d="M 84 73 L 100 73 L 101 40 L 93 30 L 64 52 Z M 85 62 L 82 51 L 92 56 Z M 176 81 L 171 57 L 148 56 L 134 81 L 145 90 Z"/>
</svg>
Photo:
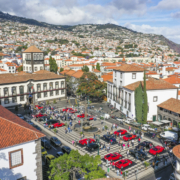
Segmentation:
<svg viewBox="0 0 180 180">
<path fill-rule="evenodd" d="M 134 91 L 139 84 L 143 86 L 143 81 L 137 81 L 135 83 L 129 84 L 127 86 L 124 86 L 126 89 L 130 89 Z M 158 90 L 158 89 L 178 89 L 178 87 L 172 85 L 171 83 L 168 83 L 162 79 L 154 79 L 154 78 L 148 78 L 146 81 L 146 89 L 147 90 Z"/>
</svg>

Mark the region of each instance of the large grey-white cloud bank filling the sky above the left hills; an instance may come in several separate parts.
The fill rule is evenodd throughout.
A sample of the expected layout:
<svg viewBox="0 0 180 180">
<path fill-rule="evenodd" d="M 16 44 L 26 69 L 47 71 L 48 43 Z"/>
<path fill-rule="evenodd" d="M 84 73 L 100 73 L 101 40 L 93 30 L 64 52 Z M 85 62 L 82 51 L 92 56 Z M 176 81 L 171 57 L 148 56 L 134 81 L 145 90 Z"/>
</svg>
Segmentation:
<svg viewBox="0 0 180 180">
<path fill-rule="evenodd" d="M 51 24 L 115 23 L 124 15 L 142 15 L 149 0 L 0 0 L 0 10 Z"/>
</svg>

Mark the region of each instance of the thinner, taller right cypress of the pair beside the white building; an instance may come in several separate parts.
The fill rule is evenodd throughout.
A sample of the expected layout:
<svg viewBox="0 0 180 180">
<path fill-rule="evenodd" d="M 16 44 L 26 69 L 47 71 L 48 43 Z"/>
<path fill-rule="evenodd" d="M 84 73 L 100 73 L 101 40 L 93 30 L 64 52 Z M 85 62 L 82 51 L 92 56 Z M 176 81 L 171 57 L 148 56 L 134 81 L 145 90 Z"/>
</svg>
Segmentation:
<svg viewBox="0 0 180 180">
<path fill-rule="evenodd" d="M 143 87 L 143 106 L 142 106 L 142 113 L 143 113 L 143 118 L 142 121 L 143 123 L 147 122 L 147 113 L 148 113 L 148 102 L 147 102 L 147 92 L 146 92 L 146 72 L 144 71 L 144 87 Z"/>
</svg>

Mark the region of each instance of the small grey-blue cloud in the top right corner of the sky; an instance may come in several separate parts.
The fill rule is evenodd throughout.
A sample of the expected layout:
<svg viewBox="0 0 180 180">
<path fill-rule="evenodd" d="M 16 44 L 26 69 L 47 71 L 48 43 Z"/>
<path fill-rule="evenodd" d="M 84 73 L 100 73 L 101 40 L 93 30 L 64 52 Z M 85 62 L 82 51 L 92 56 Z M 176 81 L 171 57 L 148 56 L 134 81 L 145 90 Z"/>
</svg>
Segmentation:
<svg viewBox="0 0 180 180">
<path fill-rule="evenodd" d="M 165 9 L 165 10 L 172 10 L 180 8 L 180 1 L 179 0 L 162 0 L 160 1 L 157 6 L 153 7 L 153 9 Z"/>
</svg>

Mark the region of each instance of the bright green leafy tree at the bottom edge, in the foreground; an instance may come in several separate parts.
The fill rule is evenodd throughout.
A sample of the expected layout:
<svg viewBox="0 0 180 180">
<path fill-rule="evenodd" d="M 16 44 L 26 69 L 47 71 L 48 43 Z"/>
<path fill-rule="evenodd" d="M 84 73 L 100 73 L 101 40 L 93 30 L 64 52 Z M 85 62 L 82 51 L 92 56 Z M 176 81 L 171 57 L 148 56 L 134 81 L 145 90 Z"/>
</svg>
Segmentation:
<svg viewBox="0 0 180 180">
<path fill-rule="evenodd" d="M 72 150 L 69 155 L 64 154 L 50 163 L 49 179 L 73 180 L 79 173 L 85 179 L 98 179 L 105 177 L 105 171 L 99 166 L 100 156 L 81 155 L 78 150 Z"/>
</svg>

